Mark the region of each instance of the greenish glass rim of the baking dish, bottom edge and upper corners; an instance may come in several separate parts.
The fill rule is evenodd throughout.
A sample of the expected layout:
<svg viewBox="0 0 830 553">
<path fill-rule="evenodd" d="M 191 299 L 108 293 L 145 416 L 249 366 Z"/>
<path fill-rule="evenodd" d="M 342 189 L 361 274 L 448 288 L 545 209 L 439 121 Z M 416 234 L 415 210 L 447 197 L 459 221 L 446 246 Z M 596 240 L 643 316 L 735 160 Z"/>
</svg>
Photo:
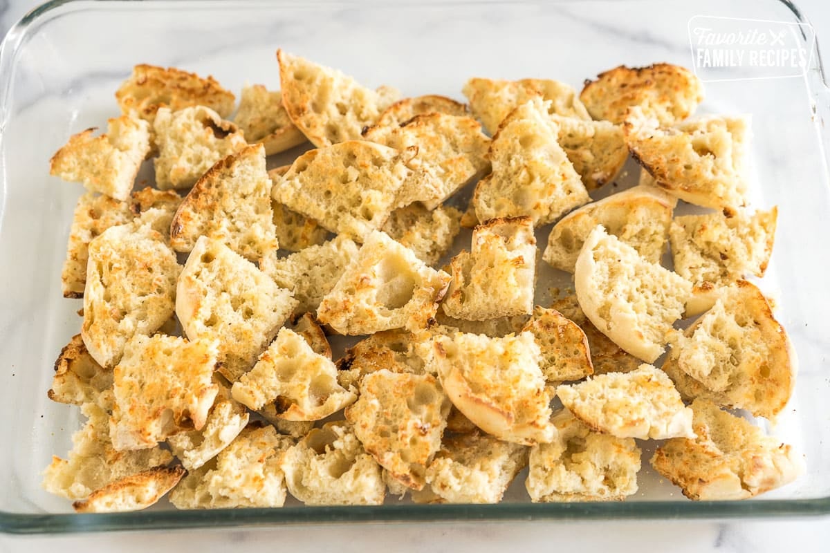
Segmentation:
<svg viewBox="0 0 830 553">
<path fill-rule="evenodd" d="M 164 4 L 170 0 L 138 0 L 147 4 Z M 427 3 L 432 0 L 427 0 Z M 572 0 L 557 0 L 566 3 Z M 28 12 L 13 25 L 0 43 L 0 75 L 11 75 L 13 62 L 27 33 L 36 23 L 61 14 L 57 8 L 86 4 L 92 9 L 124 5 L 136 0 L 50 0 Z M 218 3 L 222 0 L 178 0 L 179 6 L 190 3 Z M 371 0 L 370 0 L 371 2 Z M 414 3 L 408 0 L 405 3 Z M 787 7 L 798 23 L 808 20 L 790 0 L 774 0 Z M 247 5 L 271 4 L 271 0 L 242 0 Z M 293 2 L 288 2 L 293 3 Z M 328 0 L 297 2 L 298 5 L 329 4 Z M 367 2 L 360 2 L 365 5 Z M 384 2 L 378 2 L 384 3 Z M 455 0 L 453 3 L 471 3 Z M 338 5 L 357 4 L 347 0 Z M 238 7 L 238 2 L 235 2 Z M 813 95 L 830 99 L 818 37 L 813 41 L 813 65 L 818 69 L 821 90 Z M 0 78 L 0 129 L 7 118 L 7 98 L 11 77 Z M 809 85 L 809 83 L 808 83 Z M 812 88 L 812 87 L 810 87 Z M 0 133 L 2 146 L 2 133 Z M 825 152 L 828 156 L 828 152 Z M 5 175 L 0 158 L 0 176 Z M 5 179 L 0 180 L 0 223 L 5 207 Z M 572 503 L 501 503 L 497 505 L 382 505 L 337 507 L 281 507 L 279 509 L 213 509 L 199 511 L 125 512 L 100 514 L 27 514 L 0 511 L 0 532 L 7 534 L 55 534 L 87 531 L 129 531 L 198 528 L 204 526 L 241 527 L 268 525 L 307 525 L 352 522 L 424 522 L 424 521 L 500 521 L 500 520 L 597 520 L 597 519 L 712 519 L 746 517 L 808 517 L 830 514 L 830 496 L 813 499 L 773 499 L 750 502 L 572 502 Z"/>
</svg>

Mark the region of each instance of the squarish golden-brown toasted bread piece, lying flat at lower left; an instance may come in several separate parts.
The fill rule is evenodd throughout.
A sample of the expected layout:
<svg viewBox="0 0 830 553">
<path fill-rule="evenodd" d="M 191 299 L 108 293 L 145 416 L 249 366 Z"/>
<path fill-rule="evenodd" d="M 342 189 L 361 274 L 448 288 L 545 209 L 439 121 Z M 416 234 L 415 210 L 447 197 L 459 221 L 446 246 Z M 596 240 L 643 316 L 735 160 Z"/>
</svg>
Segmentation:
<svg viewBox="0 0 830 553">
<path fill-rule="evenodd" d="M 178 432 L 203 429 L 219 391 L 216 340 L 136 335 L 113 369 L 115 449 L 152 448 Z"/>
</svg>

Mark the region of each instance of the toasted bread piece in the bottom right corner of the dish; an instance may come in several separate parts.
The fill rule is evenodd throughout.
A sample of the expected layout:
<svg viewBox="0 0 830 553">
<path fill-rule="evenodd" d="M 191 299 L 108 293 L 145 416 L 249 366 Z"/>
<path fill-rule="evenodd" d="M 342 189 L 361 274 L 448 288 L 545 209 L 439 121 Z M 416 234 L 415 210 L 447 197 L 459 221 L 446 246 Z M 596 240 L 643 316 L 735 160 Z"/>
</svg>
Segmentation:
<svg viewBox="0 0 830 553">
<path fill-rule="evenodd" d="M 804 459 L 792 446 L 765 436 L 749 421 L 694 400 L 696 439 L 670 439 L 651 459 L 652 467 L 700 501 L 754 497 L 793 482 Z"/>
</svg>

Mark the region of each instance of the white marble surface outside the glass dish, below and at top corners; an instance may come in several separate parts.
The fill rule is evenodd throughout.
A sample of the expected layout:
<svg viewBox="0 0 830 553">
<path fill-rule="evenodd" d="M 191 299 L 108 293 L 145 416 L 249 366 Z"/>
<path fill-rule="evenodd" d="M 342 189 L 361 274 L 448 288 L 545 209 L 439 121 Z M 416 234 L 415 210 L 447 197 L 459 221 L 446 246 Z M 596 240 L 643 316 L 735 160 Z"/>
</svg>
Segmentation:
<svg viewBox="0 0 830 553">
<path fill-rule="evenodd" d="M 728 0 L 725 0 L 725 2 Z M 35 0 L 0 0 L 0 36 Z M 830 61 L 830 2 L 798 0 Z M 748 14 L 747 17 L 751 17 Z M 0 551 L 830 551 L 830 517 L 785 521 L 358 524 L 247 530 L 0 536 Z"/>
</svg>

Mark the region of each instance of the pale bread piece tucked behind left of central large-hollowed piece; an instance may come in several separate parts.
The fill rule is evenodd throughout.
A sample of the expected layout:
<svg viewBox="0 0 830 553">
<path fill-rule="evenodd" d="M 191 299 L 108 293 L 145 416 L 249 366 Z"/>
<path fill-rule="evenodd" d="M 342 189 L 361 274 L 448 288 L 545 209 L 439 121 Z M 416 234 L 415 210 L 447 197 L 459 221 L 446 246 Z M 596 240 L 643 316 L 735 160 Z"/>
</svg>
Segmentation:
<svg viewBox="0 0 830 553">
<path fill-rule="evenodd" d="M 346 268 L 357 258 L 359 246 L 338 235 L 322 245 L 311 245 L 287 257 L 276 250 L 262 258 L 260 269 L 280 288 L 291 290 L 297 300 L 295 313 L 315 312 L 334 289 Z"/>
</svg>

